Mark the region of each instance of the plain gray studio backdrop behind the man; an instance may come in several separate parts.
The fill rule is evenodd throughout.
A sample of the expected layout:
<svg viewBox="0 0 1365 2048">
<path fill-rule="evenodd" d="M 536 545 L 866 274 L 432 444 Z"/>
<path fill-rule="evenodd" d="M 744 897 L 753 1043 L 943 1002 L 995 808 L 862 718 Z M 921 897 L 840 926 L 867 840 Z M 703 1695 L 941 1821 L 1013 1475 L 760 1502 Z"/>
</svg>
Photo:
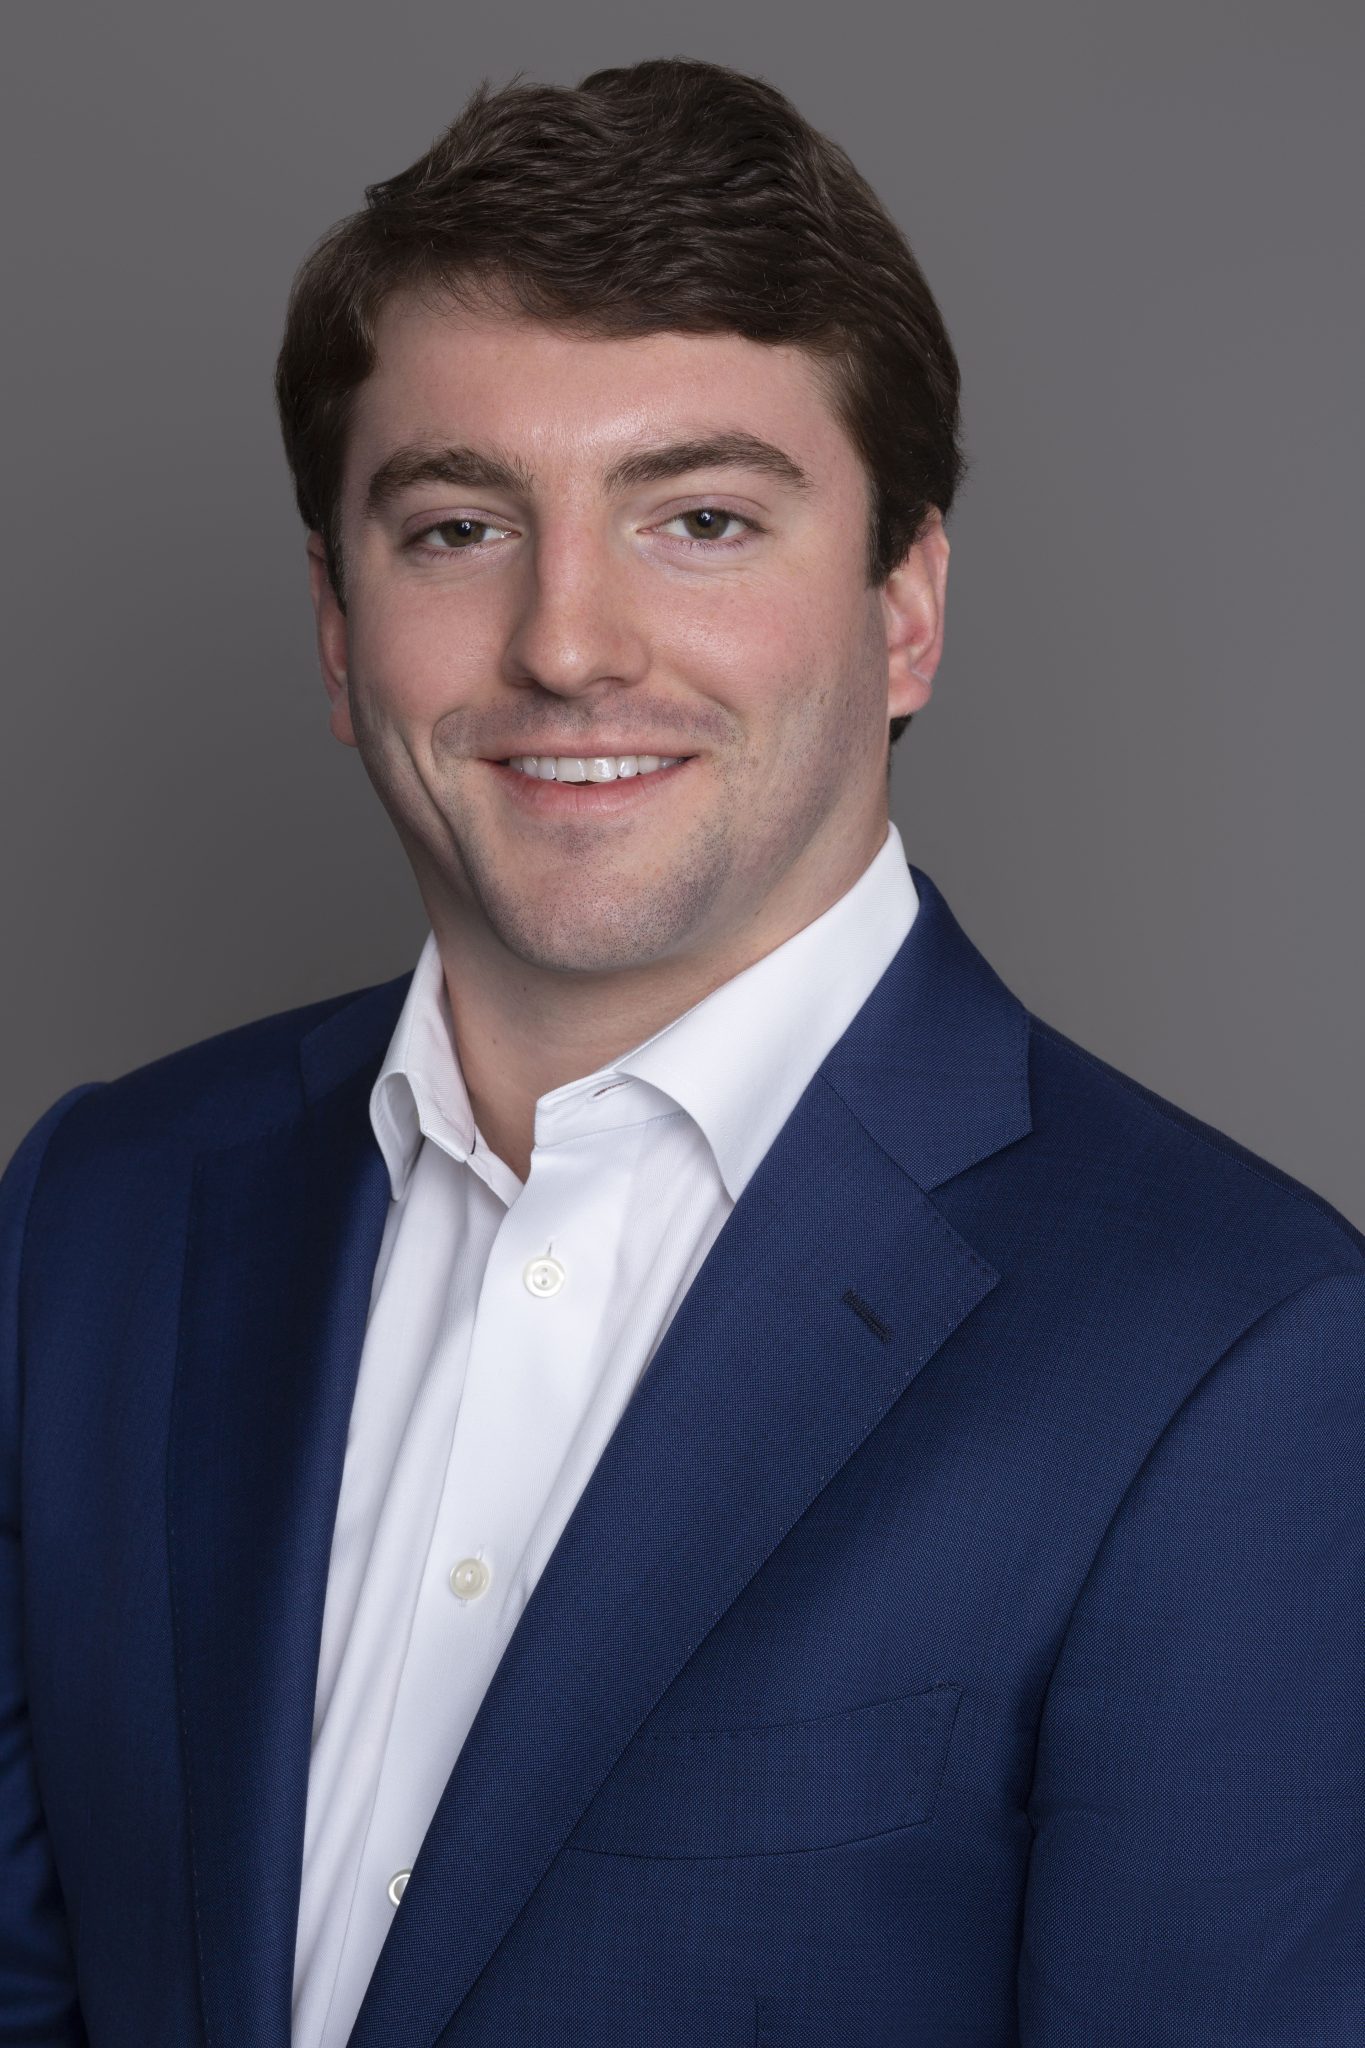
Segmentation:
<svg viewBox="0 0 1365 2048">
<path fill-rule="evenodd" d="M 483 74 L 681 53 L 851 150 L 962 358 L 911 858 L 1033 1010 L 1365 1225 L 1357 4 L 8 25 L 2 1153 L 74 1081 L 415 961 L 325 729 L 289 281 Z"/>
</svg>

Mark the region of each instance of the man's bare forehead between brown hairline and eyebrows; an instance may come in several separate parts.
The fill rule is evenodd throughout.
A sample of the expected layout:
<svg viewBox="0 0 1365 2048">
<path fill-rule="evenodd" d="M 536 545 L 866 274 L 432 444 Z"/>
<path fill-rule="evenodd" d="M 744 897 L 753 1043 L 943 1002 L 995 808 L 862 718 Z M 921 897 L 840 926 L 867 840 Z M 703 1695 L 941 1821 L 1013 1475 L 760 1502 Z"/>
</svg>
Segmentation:
<svg viewBox="0 0 1365 2048">
<path fill-rule="evenodd" d="M 356 391 L 346 469 L 354 485 L 393 449 L 460 442 L 514 453 L 548 479 L 712 432 L 776 442 L 817 485 L 862 487 L 823 369 L 800 348 L 741 334 L 583 336 L 397 295 Z"/>
</svg>

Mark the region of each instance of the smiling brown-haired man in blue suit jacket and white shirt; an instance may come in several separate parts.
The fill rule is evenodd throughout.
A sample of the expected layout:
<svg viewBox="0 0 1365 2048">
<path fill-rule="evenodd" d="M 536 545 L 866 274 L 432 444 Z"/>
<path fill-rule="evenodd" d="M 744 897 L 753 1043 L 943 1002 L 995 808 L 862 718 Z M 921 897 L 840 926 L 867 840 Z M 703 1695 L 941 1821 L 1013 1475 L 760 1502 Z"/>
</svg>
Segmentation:
<svg viewBox="0 0 1365 2048">
<path fill-rule="evenodd" d="M 278 397 L 432 932 L 6 1174 L 0 2040 L 1359 2044 L 1365 1239 L 907 866 L 898 231 L 481 92 Z"/>
</svg>

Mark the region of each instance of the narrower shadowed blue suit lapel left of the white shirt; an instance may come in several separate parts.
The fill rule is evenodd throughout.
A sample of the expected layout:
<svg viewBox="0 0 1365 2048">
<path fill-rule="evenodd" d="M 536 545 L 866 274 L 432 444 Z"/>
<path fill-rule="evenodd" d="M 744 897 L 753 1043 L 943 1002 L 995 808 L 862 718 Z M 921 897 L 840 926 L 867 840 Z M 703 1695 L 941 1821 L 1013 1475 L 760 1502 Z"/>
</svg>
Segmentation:
<svg viewBox="0 0 1365 2048">
<path fill-rule="evenodd" d="M 368 1090 L 405 979 L 305 1040 L 280 1128 L 194 1167 L 168 1538 L 215 2048 L 289 2042 L 332 1524 L 389 1204 Z"/>
</svg>

